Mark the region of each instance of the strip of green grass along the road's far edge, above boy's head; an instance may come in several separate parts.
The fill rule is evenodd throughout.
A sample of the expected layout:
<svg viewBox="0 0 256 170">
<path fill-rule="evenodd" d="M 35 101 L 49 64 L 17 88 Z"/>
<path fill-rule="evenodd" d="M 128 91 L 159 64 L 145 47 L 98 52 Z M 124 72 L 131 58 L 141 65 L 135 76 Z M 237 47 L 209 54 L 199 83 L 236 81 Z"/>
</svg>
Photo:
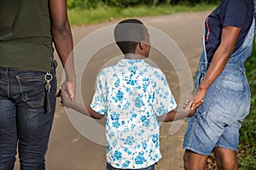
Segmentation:
<svg viewBox="0 0 256 170">
<path fill-rule="evenodd" d="M 116 8 L 101 6 L 92 9 L 73 8 L 68 10 L 68 18 L 72 26 L 89 25 L 109 20 L 119 20 L 120 18 L 155 16 L 165 14 L 176 14 L 183 12 L 206 11 L 215 8 L 214 4 L 197 4 L 195 6 L 189 5 L 159 5 L 146 6 L 140 5 L 137 7 Z"/>
</svg>

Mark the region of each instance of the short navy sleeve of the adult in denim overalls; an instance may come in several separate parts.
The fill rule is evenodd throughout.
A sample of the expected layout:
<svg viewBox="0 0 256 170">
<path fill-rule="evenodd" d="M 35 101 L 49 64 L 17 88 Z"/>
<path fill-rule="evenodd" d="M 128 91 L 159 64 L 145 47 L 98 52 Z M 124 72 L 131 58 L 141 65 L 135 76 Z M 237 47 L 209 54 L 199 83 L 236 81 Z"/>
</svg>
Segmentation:
<svg viewBox="0 0 256 170">
<path fill-rule="evenodd" d="M 230 0 L 224 12 L 223 26 L 242 27 L 247 19 L 247 3 L 244 0 Z"/>
</svg>

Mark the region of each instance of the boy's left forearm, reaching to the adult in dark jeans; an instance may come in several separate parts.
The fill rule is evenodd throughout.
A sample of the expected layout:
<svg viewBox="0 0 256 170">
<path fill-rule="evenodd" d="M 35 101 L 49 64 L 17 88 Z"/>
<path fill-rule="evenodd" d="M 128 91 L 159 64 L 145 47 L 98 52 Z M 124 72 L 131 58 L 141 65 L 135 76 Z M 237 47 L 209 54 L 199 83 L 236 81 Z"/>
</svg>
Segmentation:
<svg viewBox="0 0 256 170">
<path fill-rule="evenodd" d="M 80 105 L 71 101 L 66 91 L 61 91 L 61 99 L 65 107 L 78 111 L 79 113 L 82 113 L 85 116 L 91 116 L 95 119 L 102 119 L 102 117 L 104 116 L 91 109 L 90 105 Z"/>
</svg>

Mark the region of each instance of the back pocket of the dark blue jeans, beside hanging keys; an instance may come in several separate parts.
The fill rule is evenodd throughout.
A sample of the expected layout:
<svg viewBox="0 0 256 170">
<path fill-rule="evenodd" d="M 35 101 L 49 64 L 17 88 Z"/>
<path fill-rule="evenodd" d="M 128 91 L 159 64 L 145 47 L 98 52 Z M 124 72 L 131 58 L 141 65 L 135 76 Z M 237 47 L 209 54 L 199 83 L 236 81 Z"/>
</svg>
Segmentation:
<svg viewBox="0 0 256 170">
<path fill-rule="evenodd" d="M 16 76 L 20 85 L 22 101 L 31 107 L 44 106 L 45 85 L 44 72 Z"/>
</svg>

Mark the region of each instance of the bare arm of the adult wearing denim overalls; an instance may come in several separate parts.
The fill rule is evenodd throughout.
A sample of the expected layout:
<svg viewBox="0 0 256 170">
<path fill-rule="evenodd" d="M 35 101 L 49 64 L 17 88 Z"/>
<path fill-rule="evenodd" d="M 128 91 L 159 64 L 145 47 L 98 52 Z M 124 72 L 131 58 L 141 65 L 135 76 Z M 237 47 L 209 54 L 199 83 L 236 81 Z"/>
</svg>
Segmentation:
<svg viewBox="0 0 256 170">
<path fill-rule="evenodd" d="M 224 26 L 222 31 L 221 43 L 213 55 L 212 63 L 207 71 L 207 74 L 201 81 L 199 88 L 195 92 L 193 98 L 190 100 L 189 105 L 185 111 L 195 110 L 198 108 L 204 99 L 207 89 L 211 86 L 212 82 L 224 70 L 225 65 L 230 59 L 230 55 L 234 52 L 236 47 L 236 40 L 239 36 L 241 28 L 234 26 Z"/>
</svg>

